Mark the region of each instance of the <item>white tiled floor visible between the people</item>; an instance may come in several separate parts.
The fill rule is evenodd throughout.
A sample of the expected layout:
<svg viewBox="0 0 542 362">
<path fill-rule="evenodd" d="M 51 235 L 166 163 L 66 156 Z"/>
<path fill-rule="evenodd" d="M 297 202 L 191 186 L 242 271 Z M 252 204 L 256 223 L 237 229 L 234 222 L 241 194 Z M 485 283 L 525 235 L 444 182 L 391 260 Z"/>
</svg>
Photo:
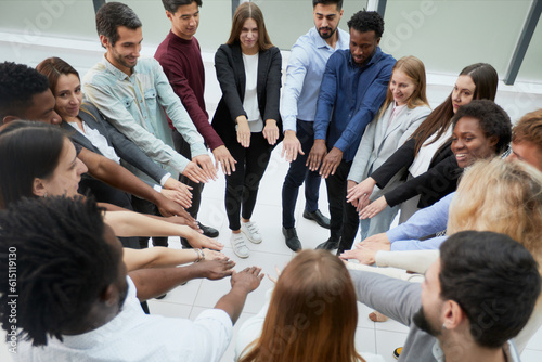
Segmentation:
<svg viewBox="0 0 542 362">
<path fill-rule="evenodd" d="M 284 244 L 281 225 L 281 190 L 288 168 L 288 164 L 280 157 L 281 148 L 282 145 L 279 145 L 273 152 L 270 165 L 260 184 L 258 202 L 251 220 L 260 228 L 263 242 L 258 245 L 248 245 L 250 248 L 248 259 L 237 258 L 229 244 L 230 230 L 228 229 L 223 206 L 223 176 L 218 181 L 205 186 L 198 219 L 204 224 L 220 229 L 219 240 L 225 245 L 224 254 L 237 262 L 236 269 L 238 270 L 254 264 L 261 267 L 264 273 L 275 275 L 275 266 L 282 268 L 293 257 L 293 253 Z M 322 182 L 320 190 L 320 209 L 328 216 L 324 182 Z M 318 244 L 327 240 L 328 231 L 301 217 L 305 207 L 302 188 L 299 195 L 295 212 L 297 233 L 305 248 L 314 248 Z M 170 238 L 170 246 L 180 247 L 178 238 Z M 259 311 L 264 301 L 266 290 L 270 287 L 271 282 L 264 279 L 261 286 L 248 296 L 243 314 L 235 325 L 235 333 L 246 319 Z M 205 308 L 212 307 L 229 288 L 229 279 L 214 282 L 191 281 L 185 286 L 169 293 L 166 298 L 152 300 L 150 308 L 152 313 L 195 319 Z M 358 303 L 358 307 L 357 348 L 361 351 L 382 354 L 386 361 L 395 361 L 391 352 L 395 348 L 402 346 L 406 338 L 408 328 L 391 320 L 385 323 L 373 323 L 367 319 L 371 310 L 361 303 Z M 235 338 L 235 335 L 233 338 Z M 224 362 L 232 360 L 233 342 L 222 358 Z M 531 339 L 528 349 L 522 353 L 522 361 L 542 361 L 542 329 Z"/>
</svg>

